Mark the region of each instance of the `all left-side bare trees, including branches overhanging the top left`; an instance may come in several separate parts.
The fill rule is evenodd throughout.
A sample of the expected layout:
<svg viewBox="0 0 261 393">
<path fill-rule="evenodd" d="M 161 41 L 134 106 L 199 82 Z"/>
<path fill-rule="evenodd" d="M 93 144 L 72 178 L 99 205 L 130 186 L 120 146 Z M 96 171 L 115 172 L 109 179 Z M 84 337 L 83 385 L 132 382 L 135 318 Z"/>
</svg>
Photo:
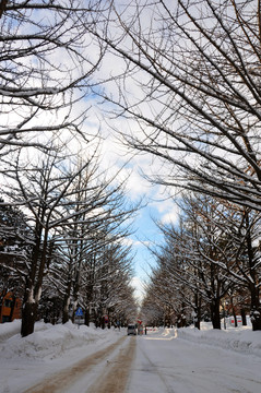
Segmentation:
<svg viewBox="0 0 261 393">
<path fill-rule="evenodd" d="M 23 296 L 23 336 L 54 299 L 63 322 L 78 305 L 86 321 L 93 310 L 100 320 L 124 314 L 127 298 L 134 309 L 122 245 L 137 207 L 100 169 L 88 121 L 105 47 L 88 31 L 106 9 L 100 0 L 0 1 L 1 294 Z"/>
</svg>

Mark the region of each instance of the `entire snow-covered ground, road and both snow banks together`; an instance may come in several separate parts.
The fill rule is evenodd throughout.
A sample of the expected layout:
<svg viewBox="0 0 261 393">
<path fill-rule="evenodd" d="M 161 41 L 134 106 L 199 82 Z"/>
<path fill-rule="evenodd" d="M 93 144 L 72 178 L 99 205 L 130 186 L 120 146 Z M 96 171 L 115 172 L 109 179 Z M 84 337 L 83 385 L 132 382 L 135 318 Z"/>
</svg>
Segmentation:
<svg viewBox="0 0 261 393">
<path fill-rule="evenodd" d="M 0 325 L 0 393 L 260 393 L 261 332 Z"/>
</svg>

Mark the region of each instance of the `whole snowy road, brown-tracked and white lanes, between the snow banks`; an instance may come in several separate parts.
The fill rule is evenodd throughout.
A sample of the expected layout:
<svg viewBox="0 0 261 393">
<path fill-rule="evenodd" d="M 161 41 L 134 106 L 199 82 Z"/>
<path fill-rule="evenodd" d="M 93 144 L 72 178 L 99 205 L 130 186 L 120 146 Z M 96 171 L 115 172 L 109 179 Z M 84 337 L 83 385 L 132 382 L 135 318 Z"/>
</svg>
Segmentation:
<svg viewBox="0 0 261 393">
<path fill-rule="evenodd" d="M 261 359 L 154 333 L 123 336 L 25 393 L 260 393 Z"/>
</svg>

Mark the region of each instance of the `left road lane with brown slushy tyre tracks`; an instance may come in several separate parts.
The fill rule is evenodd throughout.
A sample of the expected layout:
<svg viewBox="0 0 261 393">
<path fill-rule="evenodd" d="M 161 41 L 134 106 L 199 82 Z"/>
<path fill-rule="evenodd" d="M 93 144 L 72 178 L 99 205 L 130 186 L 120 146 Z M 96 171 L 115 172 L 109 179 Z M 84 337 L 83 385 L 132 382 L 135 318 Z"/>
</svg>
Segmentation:
<svg viewBox="0 0 261 393">
<path fill-rule="evenodd" d="M 24 393 L 122 393 L 135 342 L 126 336 L 73 366 L 51 374 Z"/>
</svg>

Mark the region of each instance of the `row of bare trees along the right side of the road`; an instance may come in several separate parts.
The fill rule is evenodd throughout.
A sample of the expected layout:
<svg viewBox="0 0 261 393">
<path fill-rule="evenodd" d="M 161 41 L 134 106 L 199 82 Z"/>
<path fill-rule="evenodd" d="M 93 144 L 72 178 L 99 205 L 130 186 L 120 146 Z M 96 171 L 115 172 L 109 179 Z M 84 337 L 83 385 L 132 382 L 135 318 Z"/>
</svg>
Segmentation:
<svg viewBox="0 0 261 393">
<path fill-rule="evenodd" d="M 250 312 L 260 330 L 260 213 L 201 194 L 183 196 L 181 209 L 179 225 L 159 224 L 165 242 L 154 250 L 144 310 L 153 299 L 168 323 L 193 319 L 199 329 L 204 315 L 221 329 L 224 311 Z"/>
</svg>

